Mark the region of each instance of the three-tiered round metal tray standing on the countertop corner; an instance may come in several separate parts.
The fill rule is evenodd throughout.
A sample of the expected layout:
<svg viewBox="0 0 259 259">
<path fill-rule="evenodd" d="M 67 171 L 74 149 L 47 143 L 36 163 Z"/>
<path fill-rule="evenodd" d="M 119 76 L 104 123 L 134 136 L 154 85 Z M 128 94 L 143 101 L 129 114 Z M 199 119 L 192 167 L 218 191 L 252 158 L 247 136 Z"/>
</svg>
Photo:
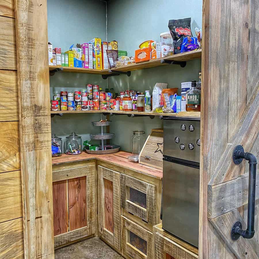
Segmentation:
<svg viewBox="0 0 259 259">
<path fill-rule="evenodd" d="M 111 124 L 111 121 L 102 120 L 102 115 L 101 115 L 101 120 L 100 121 L 93 121 L 92 124 L 94 126 L 101 127 L 101 133 L 90 134 L 90 138 L 95 139 L 95 140 L 101 140 L 101 142 L 102 142 L 101 149 L 102 150 L 88 150 L 88 149 L 85 149 L 86 153 L 104 155 L 104 154 L 113 154 L 113 153 L 119 152 L 121 147 L 117 146 L 117 145 L 109 145 L 109 146 L 112 146 L 112 149 L 104 150 L 104 140 L 112 139 L 114 137 L 113 133 L 104 133 L 103 132 L 103 127 L 109 126 Z"/>
</svg>

